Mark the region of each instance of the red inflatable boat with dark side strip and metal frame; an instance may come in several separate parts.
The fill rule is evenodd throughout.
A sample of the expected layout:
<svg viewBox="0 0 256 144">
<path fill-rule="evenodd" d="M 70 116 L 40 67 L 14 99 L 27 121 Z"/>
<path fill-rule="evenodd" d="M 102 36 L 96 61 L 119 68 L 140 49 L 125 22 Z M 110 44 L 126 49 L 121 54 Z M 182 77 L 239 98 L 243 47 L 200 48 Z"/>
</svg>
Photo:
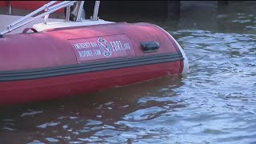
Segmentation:
<svg viewBox="0 0 256 144">
<path fill-rule="evenodd" d="M 1 33 L 0 105 L 86 94 L 186 73 L 186 55 L 165 30 L 149 23 L 102 21 L 96 4 L 91 19 L 41 23 L 21 34 L 6 35 L 12 30 L 9 26 Z"/>
</svg>

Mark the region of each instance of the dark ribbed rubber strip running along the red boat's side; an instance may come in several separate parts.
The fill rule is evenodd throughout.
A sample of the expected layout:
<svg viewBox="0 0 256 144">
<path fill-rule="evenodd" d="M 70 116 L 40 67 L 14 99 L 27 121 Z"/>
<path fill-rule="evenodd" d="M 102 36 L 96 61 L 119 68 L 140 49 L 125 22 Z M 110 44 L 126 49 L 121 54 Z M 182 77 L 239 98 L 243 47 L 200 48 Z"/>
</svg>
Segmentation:
<svg viewBox="0 0 256 144">
<path fill-rule="evenodd" d="M 168 53 L 147 55 L 134 58 L 114 58 L 99 62 L 84 62 L 66 66 L 54 66 L 35 70 L 10 70 L 0 71 L 0 82 L 26 80 L 34 78 L 47 78 L 68 74 L 81 74 L 101 70 L 113 70 L 130 66 L 143 66 L 162 62 L 174 62 L 182 60 L 181 53 Z"/>
</svg>

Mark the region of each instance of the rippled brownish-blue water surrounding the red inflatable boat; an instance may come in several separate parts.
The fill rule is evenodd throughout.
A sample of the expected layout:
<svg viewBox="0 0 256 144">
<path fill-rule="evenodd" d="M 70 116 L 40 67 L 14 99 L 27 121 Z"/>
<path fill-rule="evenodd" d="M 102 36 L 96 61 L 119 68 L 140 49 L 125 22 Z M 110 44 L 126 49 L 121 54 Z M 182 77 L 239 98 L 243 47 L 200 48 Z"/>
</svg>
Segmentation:
<svg viewBox="0 0 256 144">
<path fill-rule="evenodd" d="M 0 143 L 256 143 L 256 2 L 214 6 L 142 19 L 174 35 L 188 74 L 1 107 Z"/>
</svg>

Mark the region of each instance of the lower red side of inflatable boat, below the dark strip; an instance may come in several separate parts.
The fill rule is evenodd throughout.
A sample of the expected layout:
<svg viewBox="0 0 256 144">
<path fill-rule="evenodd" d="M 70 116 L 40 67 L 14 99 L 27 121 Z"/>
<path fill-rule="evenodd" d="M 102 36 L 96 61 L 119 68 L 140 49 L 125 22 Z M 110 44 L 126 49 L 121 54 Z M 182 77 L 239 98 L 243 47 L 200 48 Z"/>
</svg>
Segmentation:
<svg viewBox="0 0 256 144">
<path fill-rule="evenodd" d="M 164 62 L 84 74 L 0 82 L 0 105 L 88 94 L 114 86 L 126 86 L 168 74 L 178 74 L 181 71 L 181 62 Z"/>
</svg>

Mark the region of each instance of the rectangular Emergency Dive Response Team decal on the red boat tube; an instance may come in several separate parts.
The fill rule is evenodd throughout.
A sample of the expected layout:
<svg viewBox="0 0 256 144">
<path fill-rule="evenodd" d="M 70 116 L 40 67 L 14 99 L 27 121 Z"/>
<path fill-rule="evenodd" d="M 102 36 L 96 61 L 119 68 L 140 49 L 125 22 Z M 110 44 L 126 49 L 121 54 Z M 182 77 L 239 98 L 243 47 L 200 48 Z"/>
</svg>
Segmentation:
<svg viewBox="0 0 256 144">
<path fill-rule="evenodd" d="M 78 62 L 104 58 L 134 56 L 134 48 L 126 34 L 69 40 Z"/>
</svg>

